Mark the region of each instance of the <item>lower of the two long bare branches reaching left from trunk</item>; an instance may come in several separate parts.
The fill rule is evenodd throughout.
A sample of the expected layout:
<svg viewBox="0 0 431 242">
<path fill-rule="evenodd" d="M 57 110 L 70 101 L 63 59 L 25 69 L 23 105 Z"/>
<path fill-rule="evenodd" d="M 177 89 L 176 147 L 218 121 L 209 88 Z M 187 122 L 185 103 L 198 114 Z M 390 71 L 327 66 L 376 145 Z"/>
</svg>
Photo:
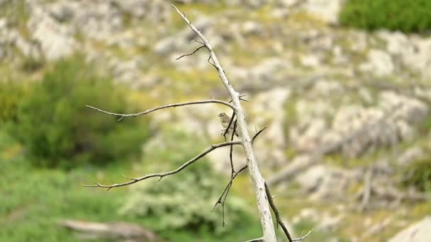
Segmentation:
<svg viewBox="0 0 431 242">
<path fill-rule="evenodd" d="M 206 156 L 206 154 L 208 154 L 208 153 L 210 153 L 211 151 L 213 151 L 213 150 L 215 150 L 215 149 L 218 149 L 218 148 L 220 148 L 220 147 L 223 147 L 223 146 L 229 146 L 229 145 L 234 145 L 234 144 L 241 144 L 241 142 L 239 142 L 239 141 L 235 141 L 235 142 L 223 142 L 223 143 L 220 143 L 220 144 L 213 144 L 213 145 L 211 145 L 211 147 L 210 148 L 208 148 L 208 149 L 206 149 L 205 151 L 203 151 L 201 154 L 198 154 L 197 156 L 195 156 L 193 159 L 191 159 L 191 160 L 189 160 L 189 161 L 187 161 L 186 163 L 184 163 L 182 166 L 180 166 L 179 168 L 177 168 L 177 169 L 175 169 L 175 170 L 172 170 L 172 171 L 168 171 L 168 172 L 165 172 L 165 173 L 154 173 L 154 174 L 150 174 L 150 175 L 145 175 L 145 176 L 142 176 L 142 177 L 140 177 L 140 178 L 128 178 L 128 177 L 125 177 L 125 178 L 128 178 L 130 181 L 129 182 L 127 182 L 127 183 L 117 183 L 117 184 L 112 184 L 112 185 L 102 185 L 102 184 L 100 184 L 100 183 L 97 183 L 96 181 L 94 181 L 94 180 L 91 180 L 91 182 L 92 183 L 94 183 L 94 184 L 96 184 L 96 185 L 82 185 L 82 186 L 84 186 L 84 187 L 95 187 L 95 188 L 106 188 L 106 190 L 110 190 L 111 188 L 118 188 L 118 187 L 123 187 L 123 186 L 125 186 L 125 185 L 130 185 L 130 184 L 133 184 L 133 183 L 138 183 L 139 181 L 141 181 L 141 180 L 145 180 L 145 179 L 148 179 L 148 178 L 155 178 L 155 177 L 158 177 L 159 178 L 159 180 L 162 180 L 162 178 L 164 177 L 164 176 L 167 176 L 167 175 L 174 175 L 174 174 L 176 174 L 176 173 L 179 173 L 180 171 L 182 171 L 184 168 L 186 168 L 187 166 L 190 166 L 192 163 L 194 163 L 194 162 L 196 162 L 196 161 L 198 161 L 199 159 L 201 159 L 203 156 Z"/>
</svg>

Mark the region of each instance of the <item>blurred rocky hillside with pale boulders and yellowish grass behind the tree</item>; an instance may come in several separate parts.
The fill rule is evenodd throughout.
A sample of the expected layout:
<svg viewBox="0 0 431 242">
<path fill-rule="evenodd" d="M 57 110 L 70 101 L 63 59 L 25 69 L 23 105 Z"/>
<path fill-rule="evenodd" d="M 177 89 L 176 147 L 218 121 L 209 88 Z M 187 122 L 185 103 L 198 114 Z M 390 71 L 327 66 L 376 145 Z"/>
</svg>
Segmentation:
<svg viewBox="0 0 431 242">
<path fill-rule="evenodd" d="M 256 148 L 289 224 L 315 227 L 310 241 L 386 241 L 431 214 L 428 197 L 403 185 L 416 161 L 431 165 L 429 36 L 342 28 L 342 0 L 174 2 L 247 95 L 250 127 L 269 125 Z M 145 107 L 227 98 L 205 50 L 175 59 L 195 38 L 169 1 L 0 0 L 1 76 L 33 79 L 79 52 Z M 168 124 L 216 142 L 221 111 L 153 115 L 153 142 Z M 229 171 L 225 150 L 211 159 Z"/>
</svg>

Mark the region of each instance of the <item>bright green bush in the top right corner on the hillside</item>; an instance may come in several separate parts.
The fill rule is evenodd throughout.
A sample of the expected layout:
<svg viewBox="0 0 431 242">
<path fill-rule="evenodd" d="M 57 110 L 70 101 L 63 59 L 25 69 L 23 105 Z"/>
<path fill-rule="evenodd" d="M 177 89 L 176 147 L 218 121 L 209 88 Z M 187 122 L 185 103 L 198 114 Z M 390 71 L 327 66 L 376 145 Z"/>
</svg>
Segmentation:
<svg viewBox="0 0 431 242">
<path fill-rule="evenodd" d="M 345 26 L 426 33 L 431 30 L 431 1 L 347 0 L 340 13 Z"/>
</svg>

